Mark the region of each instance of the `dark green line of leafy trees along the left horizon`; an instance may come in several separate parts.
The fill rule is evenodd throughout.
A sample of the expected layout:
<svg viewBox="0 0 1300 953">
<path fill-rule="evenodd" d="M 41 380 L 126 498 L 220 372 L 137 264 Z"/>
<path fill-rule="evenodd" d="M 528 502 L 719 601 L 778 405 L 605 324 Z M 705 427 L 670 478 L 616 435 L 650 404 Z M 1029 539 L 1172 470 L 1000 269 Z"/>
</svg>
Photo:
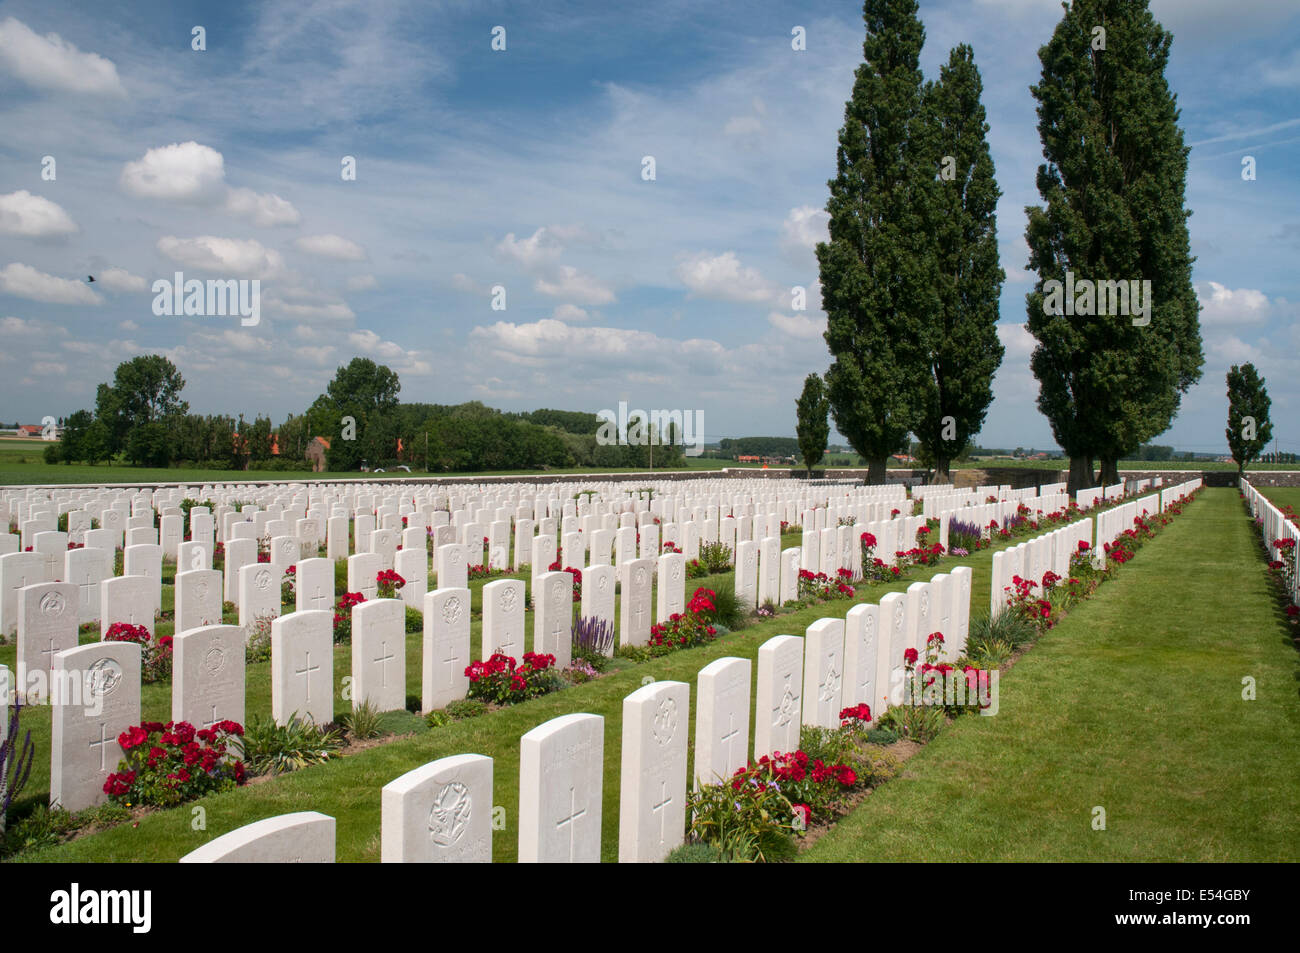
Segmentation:
<svg viewBox="0 0 1300 953">
<path fill-rule="evenodd" d="M 95 410 L 62 421 L 48 463 L 199 469 L 309 469 L 316 437 L 329 445 L 334 472 L 408 465 L 430 472 L 549 469 L 569 467 L 649 468 L 685 463 L 680 434 L 651 430 L 641 443 L 603 443 L 595 413 L 543 408 L 504 412 L 474 400 L 462 404 L 403 403 L 396 372 L 367 358 L 339 367 L 325 393 L 300 415 L 274 426 L 270 417 L 198 415 L 181 399 L 185 378 L 161 355 L 124 361 L 113 381 L 99 385 Z M 629 421 L 629 429 L 637 421 Z M 670 428 L 671 429 L 671 428 Z"/>
</svg>

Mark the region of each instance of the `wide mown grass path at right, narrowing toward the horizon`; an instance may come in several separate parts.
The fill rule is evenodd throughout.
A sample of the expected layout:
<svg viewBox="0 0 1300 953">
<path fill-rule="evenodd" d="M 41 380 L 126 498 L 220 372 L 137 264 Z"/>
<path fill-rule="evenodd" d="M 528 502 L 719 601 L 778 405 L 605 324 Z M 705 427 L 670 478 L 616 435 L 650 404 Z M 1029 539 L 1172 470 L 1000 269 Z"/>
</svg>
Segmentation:
<svg viewBox="0 0 1300 953">
<path fill-rule="evenodd" d="M 1236 490 L 1208 489 L 1006 673 L 996 716 L 801 859 L 1300 859 L 1294 633 Z"/>
</svg>

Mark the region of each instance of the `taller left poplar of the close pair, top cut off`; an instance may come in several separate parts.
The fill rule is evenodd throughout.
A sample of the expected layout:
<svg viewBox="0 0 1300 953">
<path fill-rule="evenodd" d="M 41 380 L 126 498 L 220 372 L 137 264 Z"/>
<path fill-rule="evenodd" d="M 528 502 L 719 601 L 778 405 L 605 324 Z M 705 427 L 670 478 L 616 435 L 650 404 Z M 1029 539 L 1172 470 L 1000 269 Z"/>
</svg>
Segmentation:
<svg viewBox="0 0 1300 953">
<path fill-rule="evenodd" d="M 933 168 L 918 140 L 926 31 L 916 0 L 866 0 L 867 36 L 829 181 L 831 241 L 816 247 L 836 429 L 884 482 L 926 378 L 923 328 L 939 307 L 926 234 Z"/>
</svg>

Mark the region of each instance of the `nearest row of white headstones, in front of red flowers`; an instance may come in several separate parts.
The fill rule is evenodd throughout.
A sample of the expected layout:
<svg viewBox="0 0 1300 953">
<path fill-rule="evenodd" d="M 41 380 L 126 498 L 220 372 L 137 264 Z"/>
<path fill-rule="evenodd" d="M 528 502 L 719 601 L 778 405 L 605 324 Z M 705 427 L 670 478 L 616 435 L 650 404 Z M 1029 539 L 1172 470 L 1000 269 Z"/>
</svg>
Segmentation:
<svg viewBox="0 0 1300 953">
<path fill-rule="evenodd" d="M 965 607 L 957 605 L 963 593 Z M 892 593 L 879 606 L 854 606 L 846 619 L 820 619 L 803 637 L 775 636 L 758 650 L 753 715 L 750 660 L 711 662 L 697 680 L 694 785 L 723 783 L 745 767 L 751 716 L 753 757 L 793 751 L 802 725 L 836 727 L 840 710 L 871 703 L 884 679 L 901 686 L 904 651 L 918 644 L 914 633 L 924 633 L 942 618 L 956 625 L 952 634 L 958 636 L 968 625 L 968 595 L 970 569 L 963 567 L 953 576 L 940 573 L 914 584 L 907 593 Z M 959 641 L 952 640 L 954 650 Z M 881 696 L 876 703 L 884 707 L 887 702 Z M 689 724 L 686 683 L 656 681 L 624 698 L 620 862 L 662 861 L 682 842 Z M 603 775 L 604 719 L 599 715 L 564 715 L 520 738 L 520 862 L 599 861 Z M 460 754 L 430 762 L 386 784 L 381 800 L 384 862 L 491 859 L 498 826 L 491 758 Z M 320 814 L 269 818 L 182 858 L 218 861 L 333 862 L 333 819 Z"/>
</svg>

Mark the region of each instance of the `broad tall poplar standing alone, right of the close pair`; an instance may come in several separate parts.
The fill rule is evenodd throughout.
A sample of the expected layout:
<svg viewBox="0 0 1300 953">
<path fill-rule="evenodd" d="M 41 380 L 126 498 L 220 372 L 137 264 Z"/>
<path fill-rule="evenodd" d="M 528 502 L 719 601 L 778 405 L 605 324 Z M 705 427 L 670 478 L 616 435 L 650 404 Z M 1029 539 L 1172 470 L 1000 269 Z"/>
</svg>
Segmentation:
<svg viewBox="0 0 1300 953">
<path fill-rule="evenodd" d="M 1100 478 L 1117 481 L 1119 458 L 1169 428 L 1204 364 L 1183 207 L 1188 148 L 1165 81 L 1171 40 L 1147 0 L 1074 0 L 1039 51 L 1031 91 L 1046 207 L 1026 209 L 1040 277 L 1027 326 L 1039 410 L 1070 456 L 1071 491 L 1093 484 L 1098 456 Z M 1095 285 L 1045 308 L 1043 282 L 1066 283 L 1067 272 Z M 1095 313 L 1100 295 L 1091 307 L 1084 296 L 1134 281 L 1150 282 L 1147 315 L 1132 300 L 1127 315 Z"/>
</svg>

